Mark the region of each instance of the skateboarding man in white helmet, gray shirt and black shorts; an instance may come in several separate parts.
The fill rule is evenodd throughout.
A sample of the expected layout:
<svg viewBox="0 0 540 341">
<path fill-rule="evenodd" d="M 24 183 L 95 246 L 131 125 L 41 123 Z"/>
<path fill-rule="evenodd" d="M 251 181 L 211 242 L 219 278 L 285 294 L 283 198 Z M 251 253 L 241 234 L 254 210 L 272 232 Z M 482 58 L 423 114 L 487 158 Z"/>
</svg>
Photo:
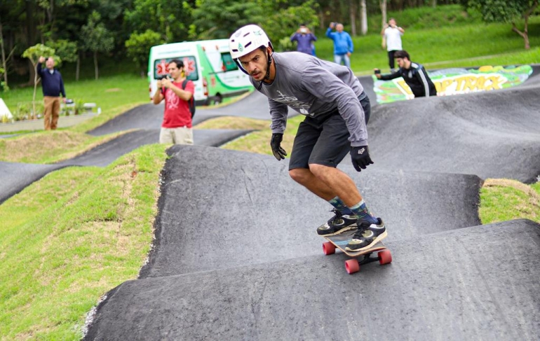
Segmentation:
<svg viewBox="0 0 540 341">
<path fill-rule="evenodd" d="M 289 175 L 334 207 L 335 216 L 317 233 L 328 236 L 357 229 L 346 246 L 349 251 L 369 249 L 384 239 L 382 219 L 371 214 L 354 181 L 336 168 L 349 152 L 358 172 L 373 163 L 366 130 L 370 100 L 351 69 L 305 53 L 274 53 L 257 25 L 234 32 L 229 50 L 255 88 L 268 97 L 270 146 L 278 161 L 287 155 L 281 141 L 288 106 L 306 116 L 292 146 Z"/>
</svg>

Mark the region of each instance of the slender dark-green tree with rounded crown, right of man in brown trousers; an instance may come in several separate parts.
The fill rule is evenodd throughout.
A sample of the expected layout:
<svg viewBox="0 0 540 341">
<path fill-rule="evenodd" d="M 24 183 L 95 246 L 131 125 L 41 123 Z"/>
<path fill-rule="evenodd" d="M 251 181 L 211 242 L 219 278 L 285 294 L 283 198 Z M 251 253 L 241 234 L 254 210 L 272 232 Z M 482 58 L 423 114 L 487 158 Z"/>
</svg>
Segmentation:
<svg viewBox="0 0 540 341">
<path fill-rule="evenodd" d="M 86 50 L 92 51 L 94 55 L 95 79 L 99 78 L 97 53 L 109 52 L 114 48 L 114 37 L 100 20 L 100 13 L 93 11 L 90 18 L 88 18 L 88 24 L 84 25 L 81 29 L 83 47 Z"/>
</svg>

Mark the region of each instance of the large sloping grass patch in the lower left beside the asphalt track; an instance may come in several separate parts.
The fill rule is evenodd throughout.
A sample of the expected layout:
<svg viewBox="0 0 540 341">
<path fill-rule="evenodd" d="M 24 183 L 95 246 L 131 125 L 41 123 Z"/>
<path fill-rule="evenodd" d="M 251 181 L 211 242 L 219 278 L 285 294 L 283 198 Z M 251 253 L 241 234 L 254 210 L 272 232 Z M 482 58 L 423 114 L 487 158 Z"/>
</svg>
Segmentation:
<svg viewBox="0 0 540 341">
<path fill-rule="evenodd" d="M 149 252 L 166 146 L 52 172 L 0 205 L 0 339 L 80 340 Z"/>
</svg>

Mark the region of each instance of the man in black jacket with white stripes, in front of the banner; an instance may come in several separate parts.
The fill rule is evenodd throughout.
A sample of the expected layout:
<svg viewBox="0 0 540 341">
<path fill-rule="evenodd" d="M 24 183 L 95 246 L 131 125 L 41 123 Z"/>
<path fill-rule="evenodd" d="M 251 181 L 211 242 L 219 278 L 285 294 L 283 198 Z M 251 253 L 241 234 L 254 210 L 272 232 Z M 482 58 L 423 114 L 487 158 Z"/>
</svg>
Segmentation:
<svg viewBox="0 0 540 341">
<path fill-rule="evenodd" d="M 403 77 L 403 80 L 411 88 L 414 97 L 437 96 L 435 84 L 431 81 L 426 69 L 420 64 L 410 61 L 410 56 L 405 50 L 394 54 L 399 69 L 393 74 L 382 75 L 379 69 L 375 70 L 375 76 L 382 81 L 389 81 L 394 78 Z"/>
</svg>

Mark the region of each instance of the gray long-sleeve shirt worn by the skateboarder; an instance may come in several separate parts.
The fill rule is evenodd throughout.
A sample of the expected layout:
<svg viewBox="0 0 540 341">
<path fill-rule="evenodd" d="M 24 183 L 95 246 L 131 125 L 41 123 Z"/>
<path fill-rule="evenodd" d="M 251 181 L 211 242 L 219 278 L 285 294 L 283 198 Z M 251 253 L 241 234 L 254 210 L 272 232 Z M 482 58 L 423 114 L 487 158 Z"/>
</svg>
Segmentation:
<svg viewBox="0 0 540 341">
<path fill-rule="evenodd" d="M 255 88 L 268 97 L 271 130 L 285 131 L 288 108 L 306 116 L 337 109 L 351 134 L 351 146 L 367 146 L 364 111 L 358 96 L 363 87 L 348 67 L 319 60 L 305 53 L 274 53 L 276 78 L 271 84 L 251 78 Z"/>
</svg>

